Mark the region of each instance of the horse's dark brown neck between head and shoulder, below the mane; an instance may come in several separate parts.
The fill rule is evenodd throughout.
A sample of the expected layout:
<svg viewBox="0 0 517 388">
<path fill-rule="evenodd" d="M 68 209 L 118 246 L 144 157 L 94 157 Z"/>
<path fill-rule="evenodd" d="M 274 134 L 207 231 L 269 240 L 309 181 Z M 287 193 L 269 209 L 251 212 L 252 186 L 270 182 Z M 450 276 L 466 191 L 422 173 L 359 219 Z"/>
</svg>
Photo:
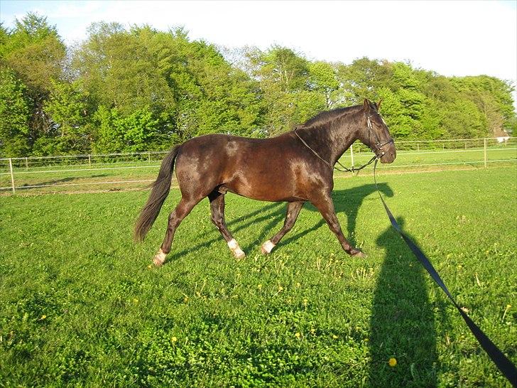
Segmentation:
<svg viewBox="0 0 517 388">
<path fill-rule="evenodd" d="M 341 117 L 334 122 L 305 131 L 306 136 L 310 137 L 308 144 L 311 148 L 314 147 L 315 151 L 332 166 L 358 139 L 357 124 L 349 117 Z"/>
</svg>

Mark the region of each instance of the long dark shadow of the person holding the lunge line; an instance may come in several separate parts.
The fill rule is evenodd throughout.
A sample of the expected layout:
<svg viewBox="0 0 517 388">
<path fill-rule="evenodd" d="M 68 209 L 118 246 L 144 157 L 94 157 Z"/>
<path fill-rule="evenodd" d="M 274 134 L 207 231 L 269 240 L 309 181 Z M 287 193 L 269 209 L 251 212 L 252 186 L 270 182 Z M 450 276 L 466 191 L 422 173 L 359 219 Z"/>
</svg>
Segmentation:
<svg viewBox="0 0 517 388">
<path fill-rule="evenodd" d="M 403 227 L 402 218 L 397 222 Z M 371 385 L 435 387 L 436 331 L 425 269 L 391 226 L 376 242 L 386 249 L 386 259 L 371 311 Z M 391 357 L 395 367 L 388 365 Z"/>
</svg>

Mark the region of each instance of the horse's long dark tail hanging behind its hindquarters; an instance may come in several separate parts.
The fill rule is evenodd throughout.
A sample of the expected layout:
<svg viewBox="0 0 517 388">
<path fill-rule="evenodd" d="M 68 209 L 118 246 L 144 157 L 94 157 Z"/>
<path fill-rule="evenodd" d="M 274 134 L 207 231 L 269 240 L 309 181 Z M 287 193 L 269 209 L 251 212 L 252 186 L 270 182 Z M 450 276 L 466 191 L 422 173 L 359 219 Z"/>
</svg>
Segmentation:
<svg viewBox="0 0 517 388">
<path fill-rule="evenodd" d="M 180 146 L 174 146 L 162 161 L 158 178 L 156 178 L 151 185 L 153 188 L 151 195 L 149 195 L 146 205 L 143 207 L 136 221 L 134 230 L 135 241 L 143 241 L 146 237 L 147 232 L 151 229 L 151 226 L 153 226 L 156 217 L 158 217 L 165 198 L 167 198 L 169 194 L 170 183 L 173 178 L 174 161 L 178 155 L 179 147 Z"/>
</svg>

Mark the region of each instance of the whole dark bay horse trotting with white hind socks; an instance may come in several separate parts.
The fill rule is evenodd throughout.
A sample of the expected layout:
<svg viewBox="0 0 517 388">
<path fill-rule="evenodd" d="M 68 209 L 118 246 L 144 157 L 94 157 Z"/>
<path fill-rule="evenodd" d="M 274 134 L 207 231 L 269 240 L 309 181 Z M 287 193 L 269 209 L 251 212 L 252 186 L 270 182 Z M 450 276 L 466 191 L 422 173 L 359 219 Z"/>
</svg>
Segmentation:
<svg viewBox="0 0 517 388">
<path fill-rule="evenodd" d="M 379 103 L 380 104 L 380 103 Z M 245 256 L 224 221 L 224 194 L 254 200 L 287 202 L 282 229 L 262 244 L 268 254 L 295 224 L 307 201 L 319 210 L 345 252 L 364 257 L 344 237 L 330 196 L 333 166 L 359 139 L 381 163 L 395 160 L 396 149 L 379 104 L 364 104 L 317 114 L 293 131 L 270 139 L 249 139 L 226 134 L 196 137 L 175 146 L 163 159 L 151 195 L 136 222 L 134 237 L 143 240 L 167 197 L 174 163 L 181 191 L 180 203 L 168 218 L 165 239 L 153 262 L 160 266 L 170 252 L 174 232 L 197 203 L 208 197 L 212 222 L 238 259 Z"/>
</svg>

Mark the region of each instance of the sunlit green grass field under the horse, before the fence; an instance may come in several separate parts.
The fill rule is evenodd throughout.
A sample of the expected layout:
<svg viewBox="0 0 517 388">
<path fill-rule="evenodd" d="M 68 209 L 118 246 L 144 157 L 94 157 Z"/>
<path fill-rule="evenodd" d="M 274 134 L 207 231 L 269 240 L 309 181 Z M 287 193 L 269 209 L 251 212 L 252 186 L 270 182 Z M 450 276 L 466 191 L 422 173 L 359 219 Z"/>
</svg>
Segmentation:
<svg viewBox="0 0 517 388">
<path fill-rule="evenodd" d="M 460 306 L 517 362 L 517 170 L 379 176 L 388 205 Z M 285 206 L 227 195 L 236 261 L 207 200 L 149 267 L 148 192 L 0 198 L 0 385 L 509 387 L 391 230 L 371 176 L 338 178 L 350 258 L 310 205 L 264 257 Z M 394 367 L 388 365 L 396 358 Z"/>
</svg>

